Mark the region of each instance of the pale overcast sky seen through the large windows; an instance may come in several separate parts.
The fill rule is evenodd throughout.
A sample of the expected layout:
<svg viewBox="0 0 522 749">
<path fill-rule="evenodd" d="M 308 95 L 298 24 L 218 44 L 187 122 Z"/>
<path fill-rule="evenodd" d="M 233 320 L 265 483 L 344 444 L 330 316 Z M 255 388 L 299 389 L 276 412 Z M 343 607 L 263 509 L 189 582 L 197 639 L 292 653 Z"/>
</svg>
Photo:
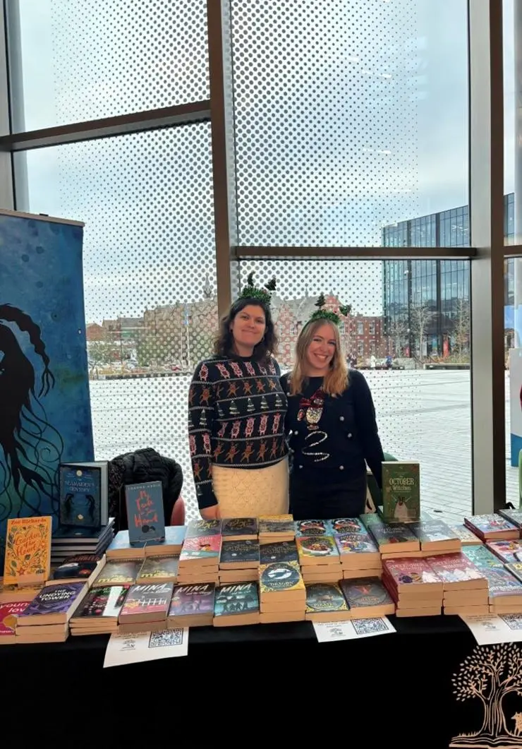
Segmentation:
<svg viewBox="0 0 522 749">
<path fill-rule="evenodd" d="M 204 0 L 19 5 L 28 130 L 208 96 Z M 233 1 L 240 241 L 376 245 L 387 223 L 467 203 L 466 0 L 312 5 Z M 85 221 L 88 321 L 201 298 L 205 270 L 215 285 L 208 125 L 32 151 L 27 170 L 19 207 Z M 379 262 L 271 270 L 283 295 L 381 312 Z"/>
</svg>

